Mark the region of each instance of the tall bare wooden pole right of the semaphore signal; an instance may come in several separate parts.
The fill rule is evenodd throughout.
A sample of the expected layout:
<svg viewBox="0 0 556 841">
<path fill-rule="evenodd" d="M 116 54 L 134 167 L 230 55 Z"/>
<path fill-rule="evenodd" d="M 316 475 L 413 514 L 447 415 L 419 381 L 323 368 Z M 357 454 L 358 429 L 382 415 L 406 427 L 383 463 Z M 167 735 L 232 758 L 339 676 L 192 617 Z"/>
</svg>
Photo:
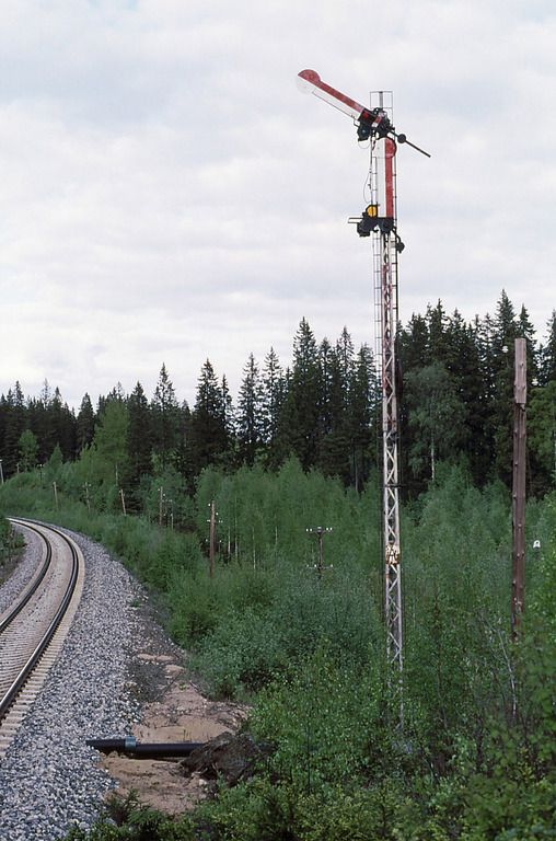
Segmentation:
<svg viewBox="0 0 556 841">
<path fill-rule="evenodd" d="M 525 579 L 525 404 L 526 343 L 516 339 L 516 382 L 513 407 L 513 487 L 512 487 L 512 562 L 511 562 L 511 632 L 516 640 L 524 604 Z"/>
</svg>

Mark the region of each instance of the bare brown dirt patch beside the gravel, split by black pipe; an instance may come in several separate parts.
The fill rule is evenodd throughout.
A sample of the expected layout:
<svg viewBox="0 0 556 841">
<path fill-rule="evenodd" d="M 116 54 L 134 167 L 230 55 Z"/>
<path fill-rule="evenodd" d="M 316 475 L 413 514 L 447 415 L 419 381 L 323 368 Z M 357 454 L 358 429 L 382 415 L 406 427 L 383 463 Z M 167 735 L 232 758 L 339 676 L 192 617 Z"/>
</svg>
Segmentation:
<svg viewBox="0 0 556 841">
<path fill-rule="evenodd" d="M 208 700 L 187 670 L 186 653 L 164 636 L 144 595 L 134 610 L 137 647 L 130 657 L 129 689 L 142 702 L 142 715 L 128 735 L 141 742 L 202 742 L 233 733 L 246 707 Z M 141 803 L 167 815 L 184 813 L 206 794 L 205 780 L 198 774 L 184 776 L 178 760 L 137 760 L 111 753 L 101 763 L 117 781 L 119 796 L 135 790 Z"/>
</svg>

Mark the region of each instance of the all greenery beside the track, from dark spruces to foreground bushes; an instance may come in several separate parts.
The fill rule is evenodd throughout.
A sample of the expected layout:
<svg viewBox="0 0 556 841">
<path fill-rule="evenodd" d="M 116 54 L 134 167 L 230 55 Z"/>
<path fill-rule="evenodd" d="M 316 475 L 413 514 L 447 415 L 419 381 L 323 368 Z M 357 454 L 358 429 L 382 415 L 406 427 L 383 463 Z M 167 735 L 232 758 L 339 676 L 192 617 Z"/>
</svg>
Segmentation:
<svg viewBox="0 0 556 841">
<path fill-rule="evenodd" d="M 528 347 L 525 610 L 512 638 L 513 345 Z M 209 359 L 193 406 L 162 365 L 73 412 L 45 381 L 0 400 L 3 516 L 106 545 L 149 588 L 213 698 L 271 753 L 179 821 L 72 839 L 556 838 L 556 311 L 439 301 L 397 335 L 403 721 L 384 641 L 373 353 L 302 320 L 291 367 L 251 355 L 234 402 Z M 56 497 L 53 488 L 56 488 Z M 213 575 L 210 506 L 218 511 Z M 324 564 L 314 569 L 317 527 Z M 135 820 L 135 822 L 134 822 Z M 139 827 L 139 828 L 138 828 Z"/>
</svg>

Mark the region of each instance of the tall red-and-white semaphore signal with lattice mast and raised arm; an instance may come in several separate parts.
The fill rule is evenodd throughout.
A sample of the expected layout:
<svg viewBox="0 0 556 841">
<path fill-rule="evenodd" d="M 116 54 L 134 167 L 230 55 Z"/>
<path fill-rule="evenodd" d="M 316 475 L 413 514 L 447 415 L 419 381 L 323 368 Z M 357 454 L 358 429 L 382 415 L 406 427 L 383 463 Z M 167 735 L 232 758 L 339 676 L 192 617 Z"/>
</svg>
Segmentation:
<svg viewBox="0 0 556 841">
<path fill-rule="evenodd" d="M 361 217 L 352 219 L 360 237 L 373 234 L 374 293 L 377 309 L 378 365 L 382 382 L 382 445 L 383 445 L 383 506 L 384 506 L 384 577 L 385 625 L 387 658 L 391 667 L 403 671 L 402 578 L 399 550 L 399 418 L 397 402 L 397 255 L 404 244 L 397 234 L 396 218 L 396 140 L 410 143 L 405 135 L 396 134 L 392 125 L 384 92 L 378 102 L 366 108 L 349 96 L 321 80 L 314 70 L 298 74 L 298 88 L 347 114 L 357 126 L 359 140 L 369 140 L 371 148 L 371 201 Z M 391 110 L 391 103 L 390 103 Z"/>
</svg>

